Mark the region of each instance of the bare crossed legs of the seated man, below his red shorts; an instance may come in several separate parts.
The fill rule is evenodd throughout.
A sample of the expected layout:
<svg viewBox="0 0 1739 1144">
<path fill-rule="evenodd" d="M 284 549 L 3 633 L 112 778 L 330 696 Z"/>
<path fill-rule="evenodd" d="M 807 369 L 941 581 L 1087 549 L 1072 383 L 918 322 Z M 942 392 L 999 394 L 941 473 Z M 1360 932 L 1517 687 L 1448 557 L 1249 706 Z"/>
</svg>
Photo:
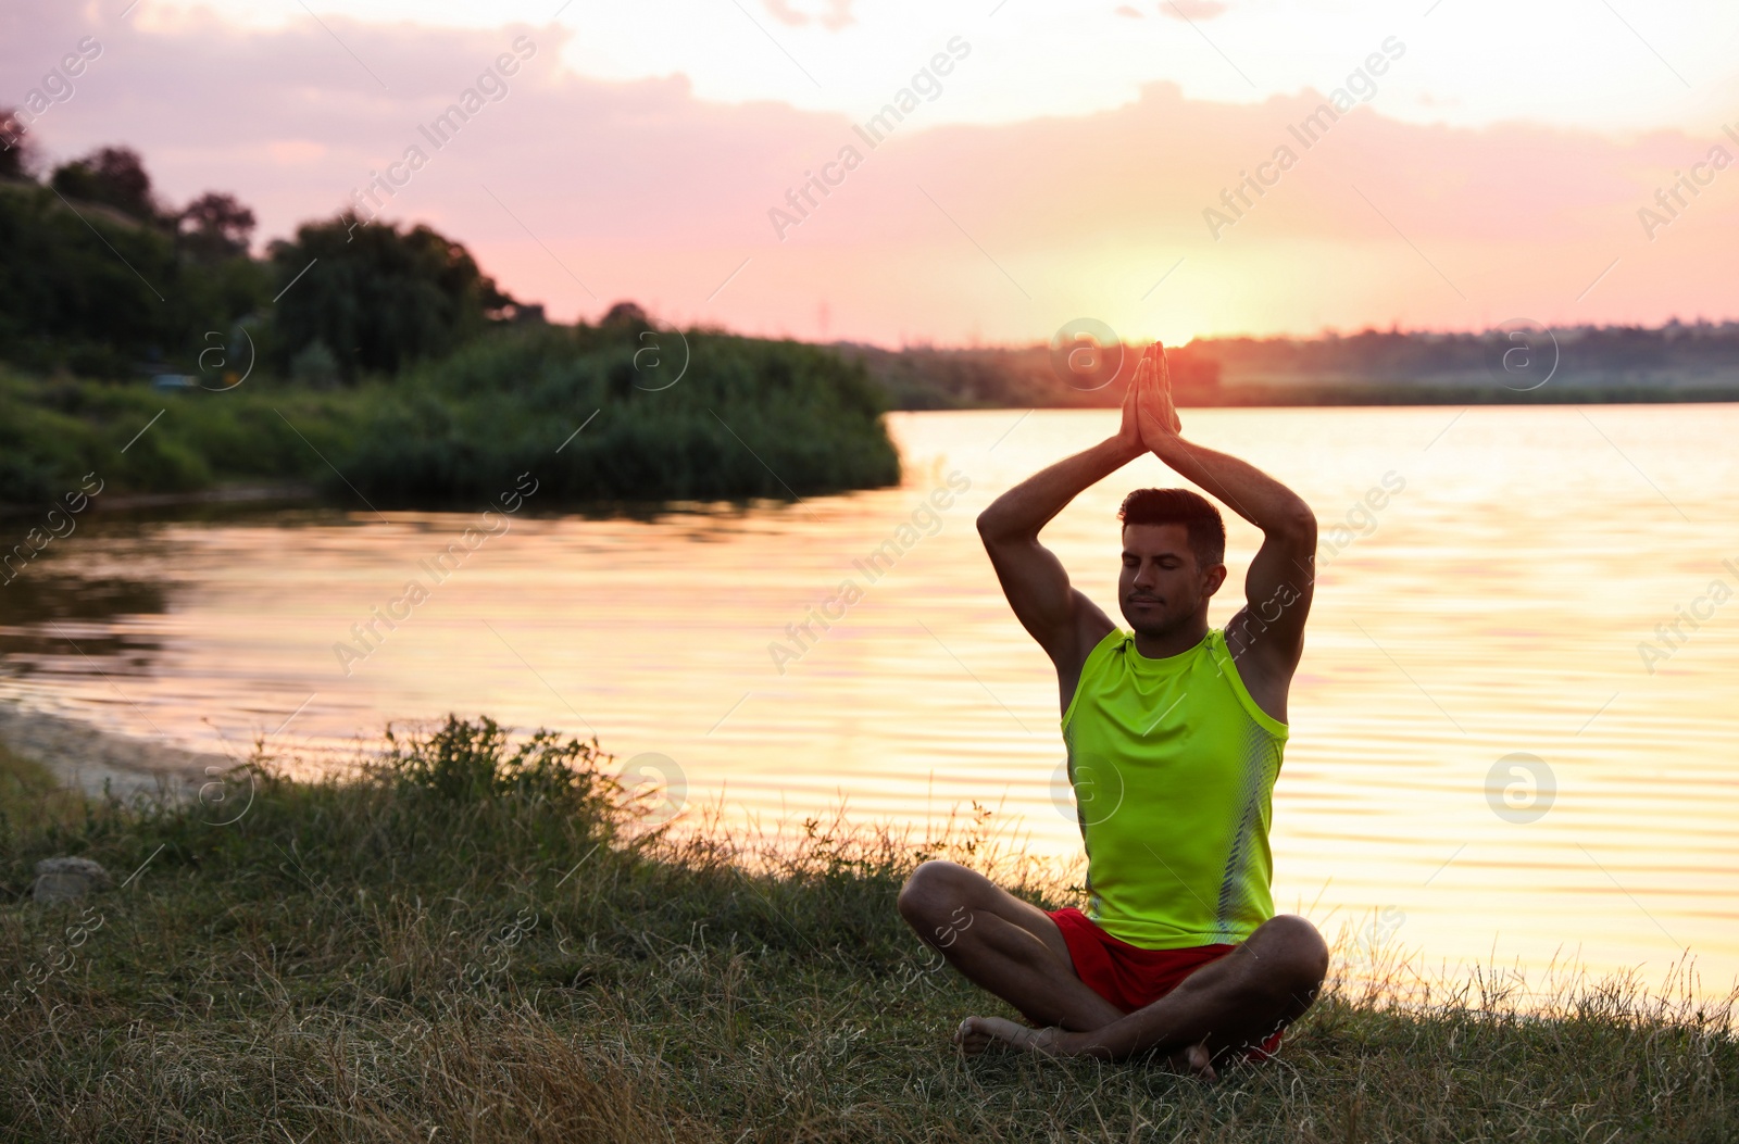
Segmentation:
<svg viewBox="0 0 1739 1144">
<path fill-rule="evenodd" d="M 1076 975 L 1063 930 L 1043 909 L 965 866 L 918 866 L 899 892 L 899 913 L 967 981 L 1038 1026 L 967 1017 L 955 1033 L 967 1054 L 991 1045 L 1106 1059 L 1151 1052 L 1212 1080 L 1214 1064 L 1301 1017 L 1329 972 L 1316 928 L 1280 915 L 1165 996 L 1125 1014 Z"/>
</svg>

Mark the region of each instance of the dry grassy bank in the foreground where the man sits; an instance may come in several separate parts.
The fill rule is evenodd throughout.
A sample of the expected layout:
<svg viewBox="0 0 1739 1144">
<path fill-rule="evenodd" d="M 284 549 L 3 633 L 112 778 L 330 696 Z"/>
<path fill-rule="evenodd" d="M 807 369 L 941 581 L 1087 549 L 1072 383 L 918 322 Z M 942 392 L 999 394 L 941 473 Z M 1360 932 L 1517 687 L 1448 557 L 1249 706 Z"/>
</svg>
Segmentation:
<svg viewBox="0 0 1739 1144">
<path fill-rule="evenodd" d="M 986 1005 L 894 913 L 925 855 L 1059 904 L 974 817 L 777 857 L 649 829 L 596 742 L 487 722 L 181 807 L 0 775 L 0 1135 L 113 1141 L 1727 1141 L 1730 1008 L 1332 989 L 1280 1061 L 963 1062 Z M 64 801 L 64 796 L 59 796 Z M 123 887 L 24 901 L 40 857 Z M 751 868 L 763 873 L 751 875 Z M 143 869 L 141 869 L 143 868 Z M 1023 876 L 1024 871 L 1024 876 Z M 49 968 L 52 967 L 52 968 Z M 1405 1003 L 1403 1003 L 1405 1001 Z"/>
</svg>

